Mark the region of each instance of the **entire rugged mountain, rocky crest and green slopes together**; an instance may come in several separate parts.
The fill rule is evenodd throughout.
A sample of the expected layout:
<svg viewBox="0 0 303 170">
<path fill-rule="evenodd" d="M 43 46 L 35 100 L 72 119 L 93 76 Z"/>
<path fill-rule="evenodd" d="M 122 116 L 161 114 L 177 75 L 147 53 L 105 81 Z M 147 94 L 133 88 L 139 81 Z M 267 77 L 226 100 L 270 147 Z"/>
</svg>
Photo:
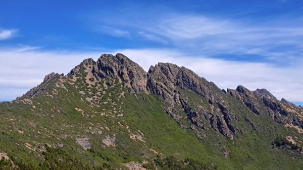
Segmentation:
<svg viewBox="0 0 303 170">
<path fill-rule="evenodd" d="M 303 168 L 302 107 L 123 54 L 46 75 L 0 119 L 0 169 Z"/>
</svg>

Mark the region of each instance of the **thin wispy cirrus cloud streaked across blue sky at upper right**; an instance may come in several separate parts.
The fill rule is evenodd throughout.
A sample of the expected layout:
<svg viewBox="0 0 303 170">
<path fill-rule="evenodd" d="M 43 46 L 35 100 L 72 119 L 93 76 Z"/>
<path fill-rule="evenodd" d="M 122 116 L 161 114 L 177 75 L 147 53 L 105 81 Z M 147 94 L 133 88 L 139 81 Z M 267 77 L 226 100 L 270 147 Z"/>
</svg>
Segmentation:
<svg viewBox="0 0 303 170">
<path fill-rule="evenodd" d="M 137 34 L 159 45 L 208 57 L 249 61 L 257 61 L 254 58 L 258 57 L 278 64 L 303 57 L 303 22 L 299 22 L 302 19 L 252 22 L 245 18 L 166 13 L 125 22 L 127 17 L 107 18 L 100 23 L 114 23 L 117 29 L 131 30 L 130 38 Z"/>
</svg>

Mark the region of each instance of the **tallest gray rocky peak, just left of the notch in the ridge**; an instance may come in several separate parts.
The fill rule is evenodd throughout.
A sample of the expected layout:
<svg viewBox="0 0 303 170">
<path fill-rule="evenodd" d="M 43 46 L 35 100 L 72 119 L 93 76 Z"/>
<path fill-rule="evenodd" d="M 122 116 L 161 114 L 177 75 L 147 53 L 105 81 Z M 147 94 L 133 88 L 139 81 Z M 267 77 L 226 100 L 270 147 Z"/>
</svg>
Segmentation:
<svg viewBox="0 0 303 170">
<path fill-rule="evenodd" d="M 118 79 L 124 86 L 131 88 L 134 92 L 147 92 L 147 73 L 137 63 L 131 61 L 123 54 L 103 54 L 97 61 L 91 58 L 85 59 L 70 71 L 71 75 L 86 75 L 87 67 L 91 74 L 100 79 Z M 108 81 L 109 85 L 112 85 Z"/>
</svg>

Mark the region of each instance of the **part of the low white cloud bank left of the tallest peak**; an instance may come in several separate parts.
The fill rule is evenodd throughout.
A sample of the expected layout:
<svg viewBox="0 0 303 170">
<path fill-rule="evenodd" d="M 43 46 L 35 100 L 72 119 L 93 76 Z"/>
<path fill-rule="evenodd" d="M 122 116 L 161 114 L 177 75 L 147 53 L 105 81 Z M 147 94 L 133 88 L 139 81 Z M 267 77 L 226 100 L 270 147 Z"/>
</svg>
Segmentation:
<svg viewBox="0 0 303 170">
<path fill-rule="evenodd" d="M 0 49 L 0 101 L 13 100 L 43 81 L 51 72 L 68 73 L 85 58 L 99 53 L 41 52 L 35 47 Z M 31 49 L 31 50 L 25 50 Z"/>
</svg>

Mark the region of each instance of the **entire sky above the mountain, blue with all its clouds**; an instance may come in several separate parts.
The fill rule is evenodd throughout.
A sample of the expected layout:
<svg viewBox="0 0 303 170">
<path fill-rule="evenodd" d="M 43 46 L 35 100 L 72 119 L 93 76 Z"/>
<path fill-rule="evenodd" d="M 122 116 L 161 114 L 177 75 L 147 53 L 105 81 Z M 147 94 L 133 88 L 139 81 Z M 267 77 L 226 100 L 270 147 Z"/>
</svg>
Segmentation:
<svg viewBox="0 0 303 170">
<path fill-rule="evenodd" d="M 48 72 L 122 52 L 145 70 L 173 62 L 220 88 L 302 104 L 302 40 L 302 1 L 1 1 L 0 101 Z"/>
</svg>

